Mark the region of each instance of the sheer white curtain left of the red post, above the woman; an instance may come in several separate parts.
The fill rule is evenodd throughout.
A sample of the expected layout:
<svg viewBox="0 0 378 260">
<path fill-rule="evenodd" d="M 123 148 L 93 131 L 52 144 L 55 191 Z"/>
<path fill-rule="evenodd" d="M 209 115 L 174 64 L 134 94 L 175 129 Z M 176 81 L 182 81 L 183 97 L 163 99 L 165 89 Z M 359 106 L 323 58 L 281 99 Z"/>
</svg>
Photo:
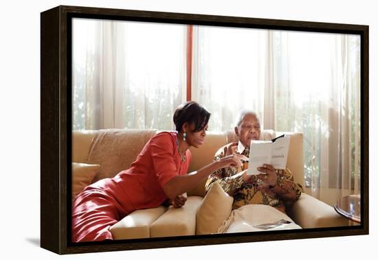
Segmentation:
<svg viewBox="0 0 378 260">
<path fill-rule="evenodd" d="M 74 19 L 73 129 L 174 130 L 186 26 Z"/>
</svg>

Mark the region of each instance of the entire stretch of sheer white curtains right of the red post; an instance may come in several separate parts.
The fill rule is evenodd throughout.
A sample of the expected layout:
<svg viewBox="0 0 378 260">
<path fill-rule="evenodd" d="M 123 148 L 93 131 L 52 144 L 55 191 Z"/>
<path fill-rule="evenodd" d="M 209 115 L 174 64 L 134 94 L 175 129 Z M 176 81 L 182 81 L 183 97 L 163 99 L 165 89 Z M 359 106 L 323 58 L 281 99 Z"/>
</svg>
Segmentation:
<svg viewBox="0 0 378 260">
<path fill-rule="evenodd" d="M 199 26 L 193 38 L 192 96 L 212 130 L 256 110 L 265 129 L 303 132 L 307 193 L 359 193 L 359 36 Z"/>
</svg>

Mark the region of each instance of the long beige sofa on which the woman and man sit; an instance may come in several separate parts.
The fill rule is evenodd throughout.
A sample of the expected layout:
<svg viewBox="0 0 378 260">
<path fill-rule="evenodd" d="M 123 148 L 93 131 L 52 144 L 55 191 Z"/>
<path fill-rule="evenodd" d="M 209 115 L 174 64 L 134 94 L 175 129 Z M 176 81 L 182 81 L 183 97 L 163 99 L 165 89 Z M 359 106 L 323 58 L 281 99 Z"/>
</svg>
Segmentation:
<svg viewBox="0 0 378 260">
<path fill-rule="evenodd" d="M 117 140 L 120 165 L 111 165 L 113 176 L 120 170 L 127 169 L 142 150 L 144 144 L 153 137 L 157 130 L 111 130 Z M 96 130 L 72 132 L 72 162 L 99 164 L 100 167 L 109 167 L 106 156 L 97 161 L 90 161 L 89 154 L 92 140 Z M 274 135 L 273 131 L 263 131 L 262 138 L 269 139 Z M 276 132 L 276 135 L 282 134 Z M 291 135 L 287 167 L 291 169 L 294 180 L 304 187 L 304 164 L 303 164 L 303 136 L 302 133 L 286 132 Z M 124 141 L 118 141 L 124 139 Z M 219 147 L 236 141 L 233 132 L 208 132 L 205 143 L 198 149 L 191 148 L 192 161 L 189 172 L 195 171 L 210 163 L 214 153 Z M 126 145 L 126 146 L 125 146 Z M 108 165 L 108 166 L 107 166 Z M 196 235 L 196 213 L 203 197 L 205 196 L 205 180 L 192 191 L 188 192 L 188 200 L 181 209 L 159 206 L 155 209 L 137 210 L 124 217 L 111 227 L 115 239 L 131 239 L 144 237 L 166 237 L 178 235 Z M 329 226 L 348 226 L 348 220 L 338 215 L 334 209 L 302 193 L 300 199 L 288 209 L 291 220 L 302 228 L 320 228 Z"/>
</svg>

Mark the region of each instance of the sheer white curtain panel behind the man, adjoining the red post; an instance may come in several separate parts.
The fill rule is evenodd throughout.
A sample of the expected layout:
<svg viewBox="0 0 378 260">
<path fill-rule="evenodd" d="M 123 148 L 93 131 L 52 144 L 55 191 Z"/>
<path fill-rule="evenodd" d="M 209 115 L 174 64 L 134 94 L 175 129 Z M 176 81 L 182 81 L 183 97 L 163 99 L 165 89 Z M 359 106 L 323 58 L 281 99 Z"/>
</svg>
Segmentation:
<svg viewBox="0 0 378 260">
<path fill-rule="evenodd" d="M 192 98 L 211 111 L 210 130 L 234 129 L 238 110 L 250 108 L 274 129 L 267 30 L 193 27 Z"/>
</svg>

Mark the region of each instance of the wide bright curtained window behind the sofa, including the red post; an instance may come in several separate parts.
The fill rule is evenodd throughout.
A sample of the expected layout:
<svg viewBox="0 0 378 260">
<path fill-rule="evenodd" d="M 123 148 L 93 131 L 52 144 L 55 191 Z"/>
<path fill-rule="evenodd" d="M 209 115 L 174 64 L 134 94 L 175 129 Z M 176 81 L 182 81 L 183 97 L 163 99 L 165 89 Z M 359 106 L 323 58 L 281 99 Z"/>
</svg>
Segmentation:
<svg viewBox="0 0 378 260">
<path fill-rule="evenodd" d="M 212 113 L 209 129 L 225 131 L 249 108 L 263 129 L 303 132 L 308 187 L 359 189 L 359 36 L 86 19 L 73 28 L 74 130 L 174 130 L 175 108 L 193 99 Z"/>
</svg>

